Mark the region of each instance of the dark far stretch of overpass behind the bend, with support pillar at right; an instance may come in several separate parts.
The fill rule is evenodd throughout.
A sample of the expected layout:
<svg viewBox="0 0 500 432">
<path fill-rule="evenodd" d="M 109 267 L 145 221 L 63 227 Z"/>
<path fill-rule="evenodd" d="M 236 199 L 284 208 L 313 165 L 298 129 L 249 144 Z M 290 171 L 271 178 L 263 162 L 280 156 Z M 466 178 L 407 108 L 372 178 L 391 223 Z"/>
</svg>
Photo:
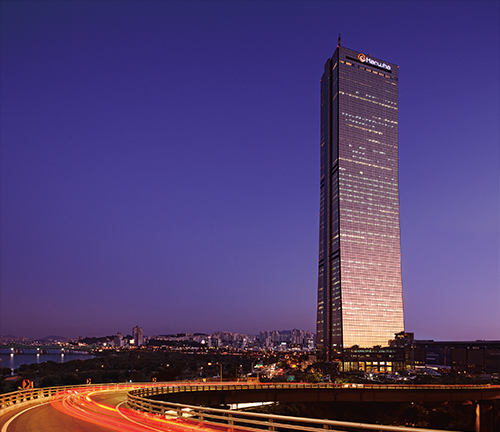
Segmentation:
<svg viewBox="0 0 500 432">
<path fill-rule="evenodd" d="M 500 425 L 497 385 L 183 385 L 144 388 L 128 395 L 131 408 L 160 414 L 172 410 L 173 404 L 189 404 L 193 409 L 250 402 L 472 402 L 476 404 L 476 431 L 493 432 Z"/>
</svg>

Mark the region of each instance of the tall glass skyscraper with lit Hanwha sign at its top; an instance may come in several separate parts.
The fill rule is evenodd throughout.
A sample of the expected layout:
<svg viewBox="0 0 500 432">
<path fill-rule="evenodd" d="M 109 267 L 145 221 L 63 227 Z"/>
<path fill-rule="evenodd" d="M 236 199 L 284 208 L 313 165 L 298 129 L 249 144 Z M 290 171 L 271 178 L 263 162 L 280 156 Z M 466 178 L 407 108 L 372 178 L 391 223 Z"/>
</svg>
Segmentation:
<svg viewBox="0 0 500 432">
<path fill-rule="evenodd" d="M 339 46 L 321 79 L 316 345 L 387 345 L 404 330 L 398 67 Z"/>
</svg>

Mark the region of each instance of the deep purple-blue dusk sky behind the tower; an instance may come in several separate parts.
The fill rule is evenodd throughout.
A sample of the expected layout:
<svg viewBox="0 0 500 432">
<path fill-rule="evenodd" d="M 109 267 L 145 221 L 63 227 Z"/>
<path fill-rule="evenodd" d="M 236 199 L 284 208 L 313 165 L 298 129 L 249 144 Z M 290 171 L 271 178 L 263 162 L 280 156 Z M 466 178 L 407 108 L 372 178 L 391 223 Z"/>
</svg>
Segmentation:
<svg viewBox="0 0 500 432">
<path fill-rule="evenodd" d="M 495 1 L 1 2 L 0 334 L 315 331 L 319 80 L 399 64 L 405 325 L 500 339 Z"/>
</svg>

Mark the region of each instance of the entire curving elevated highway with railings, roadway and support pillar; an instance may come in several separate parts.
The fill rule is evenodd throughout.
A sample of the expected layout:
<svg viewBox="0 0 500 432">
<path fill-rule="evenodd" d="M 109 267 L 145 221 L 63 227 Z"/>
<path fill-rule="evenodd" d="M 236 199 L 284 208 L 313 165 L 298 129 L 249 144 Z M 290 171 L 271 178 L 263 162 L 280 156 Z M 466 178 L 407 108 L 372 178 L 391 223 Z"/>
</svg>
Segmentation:
<svg viewBox="0 0 500 432">
<path fill-rule="evenodd" d="M 274 401 L 473 401 L 476 431 L 499 425 L 500 386 L 401 386 L 256 383 L 137 383 L 27 389 L 0 395 L 0 432 L 46 428 L 54 432 L 212 430 L 378 430 L 367 425 L 229 410 L 243 402 Z M 78 426 L 76 426 L 78 425 Z M 415 432 L 429 429 L 412 428 Z"/>
</svg>

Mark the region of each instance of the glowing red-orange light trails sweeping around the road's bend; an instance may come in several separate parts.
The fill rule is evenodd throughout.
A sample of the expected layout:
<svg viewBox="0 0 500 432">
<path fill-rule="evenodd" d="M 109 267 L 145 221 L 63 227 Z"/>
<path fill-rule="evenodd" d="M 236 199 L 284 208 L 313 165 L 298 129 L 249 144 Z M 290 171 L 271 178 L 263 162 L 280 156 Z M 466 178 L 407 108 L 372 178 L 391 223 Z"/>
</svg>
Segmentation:
<svg viewBox="0 0 500 432">
<path fill-rule="evenodd" d="M 224 426 L 208 426 L 189 419 L 168 419 L 165 418 L 165 416 L 124 408 L 121 405 L 125 402 L 121 402 L 117 406 L 106 405 L 97 402 L 93 398 L 105 393 L 132 390 L 140 387 L 152 386 L 124 385 L 115 389 L 86 387 L 82 389 L 66 390 L 54 395 L 51 398 L 50 404 L 66 415 L 119 432 L 220 432 L 227 430 L 227 427 Z M 233 428 L 233 430 L 235 432 L 238 431 L 237 428 Z"/>
</svg>

